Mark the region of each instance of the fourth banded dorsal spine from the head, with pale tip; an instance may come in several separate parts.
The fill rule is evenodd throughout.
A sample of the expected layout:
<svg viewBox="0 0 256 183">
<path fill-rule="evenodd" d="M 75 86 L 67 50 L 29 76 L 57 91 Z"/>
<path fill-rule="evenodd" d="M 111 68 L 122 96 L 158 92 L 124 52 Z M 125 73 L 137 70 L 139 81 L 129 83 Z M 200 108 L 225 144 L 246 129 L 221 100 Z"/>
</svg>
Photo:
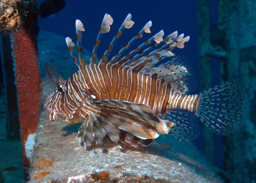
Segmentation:
<svg viewBox="0 0 256 183">
<path fill-rule="evenodd" d="M 120 26 L 120 28 L 118 29 L 118 31 L 116 32 L 116 35 L 113 37 L 111 43 L 109 44 L 107 50 L 105 51 L 105 53 L 102 56 L 102 59 L 100 60 L 100 65 L 105 65 L 108 61 L 108 57 L 109 54 L 111 53 L 116 41 L 118 40 L 118 38 L 122 35 L 122 31 L 124 29 L 130 29 L 134 24 L 134 21 L 131 20 L 131 14 L 129 13 L 125 20 L 123 21 L 122 25 Z"/>
</svg>

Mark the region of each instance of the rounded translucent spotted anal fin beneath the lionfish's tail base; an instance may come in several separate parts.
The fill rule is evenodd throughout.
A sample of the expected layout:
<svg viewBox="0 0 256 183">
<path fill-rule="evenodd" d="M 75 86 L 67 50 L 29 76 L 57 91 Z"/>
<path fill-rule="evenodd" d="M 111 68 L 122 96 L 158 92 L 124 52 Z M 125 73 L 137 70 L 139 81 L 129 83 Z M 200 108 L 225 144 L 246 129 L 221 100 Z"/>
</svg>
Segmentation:
<svg viewBox="0 0 256 183">
<path fill-rule="evenodd" d="M 199 135 L 198 118 L 192 112 L 184 109 L 168 110 L 163 117 L 175 124 L 171 126 L 170 134 L 180 141 L 192 141 Z"/>
</svg>

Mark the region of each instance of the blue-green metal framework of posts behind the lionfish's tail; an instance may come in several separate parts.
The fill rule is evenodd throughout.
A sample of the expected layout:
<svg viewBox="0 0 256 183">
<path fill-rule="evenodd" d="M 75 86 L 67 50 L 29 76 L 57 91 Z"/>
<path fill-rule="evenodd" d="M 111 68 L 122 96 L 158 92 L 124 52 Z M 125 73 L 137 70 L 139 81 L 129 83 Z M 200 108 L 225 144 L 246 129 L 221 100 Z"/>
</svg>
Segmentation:
<svg viewBox="0 0 256 183">
<path fill-rule="evenodd" d="M 223 169 L 220 173 L 232 182 L 252 182 L 256 180 L 256 115 L 253 101 L 256 91 L 256 1 L 218 0 L 218 31 L 224 36 L 214 37 L 210 29 L 210 0 L 198 0 L 199 45 L 202 88 L 212 84 L 212 58 L 220 60 L 221 82 L 239 80 L 247 92 L 248 116 L 242 131 L 224 137 Z M 204 144 L 215 140 L 208 130 L 204 133 Z M 215 162 L 215 147 L 205 148 L 209 160 Z"/>
</svg>

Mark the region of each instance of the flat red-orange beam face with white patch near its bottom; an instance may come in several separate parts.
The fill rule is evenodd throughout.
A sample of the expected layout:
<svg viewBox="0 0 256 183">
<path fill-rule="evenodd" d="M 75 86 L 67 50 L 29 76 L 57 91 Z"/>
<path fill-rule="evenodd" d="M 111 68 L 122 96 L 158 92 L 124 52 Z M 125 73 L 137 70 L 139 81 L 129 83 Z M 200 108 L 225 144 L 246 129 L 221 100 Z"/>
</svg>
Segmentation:
<svg viewBox="0 0 256 183">
<path fill-rule="evenodd" d="M 36 36 L 23 27 L 12 33 L 24 167 L 29 167 L 32 158 L 34 136 L 41 109 Z"/>
</svg>

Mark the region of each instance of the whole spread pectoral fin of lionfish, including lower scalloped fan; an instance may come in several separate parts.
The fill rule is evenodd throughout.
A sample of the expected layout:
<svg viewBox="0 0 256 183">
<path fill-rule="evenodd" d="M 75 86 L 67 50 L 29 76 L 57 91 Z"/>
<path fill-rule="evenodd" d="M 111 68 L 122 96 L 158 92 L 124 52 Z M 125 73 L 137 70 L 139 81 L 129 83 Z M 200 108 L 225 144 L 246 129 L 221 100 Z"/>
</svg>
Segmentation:
<svg viewBox="0 0 256 183">
<path fill-rule="evenodd" d="M 91 107 L 98 111 L 97 114 L 89 115 L 78 132 L 79 143 L 87 150 L 92 149 L 92 142 L 95 140 L 99 148 L 105 151 L 105 135 L 117 145 L 121 142 L 137 148 L 149 145 L 159 136 L 156 123 L 160 119 L 152 114 L 148 106 L 101 100 L 92 102 Z M 168 125 L 165 124 L 165 128 L 169 131 Z M 163 133 L 168 132 L 164 130 Z"/>
</svg>

